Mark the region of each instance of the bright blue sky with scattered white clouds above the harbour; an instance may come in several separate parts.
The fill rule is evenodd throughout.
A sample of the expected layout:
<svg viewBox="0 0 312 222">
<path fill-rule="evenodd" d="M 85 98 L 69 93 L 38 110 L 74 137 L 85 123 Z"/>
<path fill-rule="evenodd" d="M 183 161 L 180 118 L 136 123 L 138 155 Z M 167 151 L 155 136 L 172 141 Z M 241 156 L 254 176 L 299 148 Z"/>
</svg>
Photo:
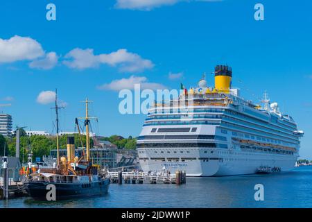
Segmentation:
<svg viewBox="0 0 312 222">
<path fill-rule="evenodd" d="M 48 21 L 46 6 L 56 7 Z M 264 20 L 254 19 L 262 3 Z M 119 113 L 119 90 L 194 87 L 214 66 L 233 69 L 234 87 L 271 101 L 297 121 L 301 158 L 312 159 L 311 1 L 105 0 L 0 1 L 0 112 L 13 126 L 54 132 L 53 91 L 60 129 L 74 130 L 92 99 L 95 133 L 137 136 L 144 114 Z"/>
</svg>

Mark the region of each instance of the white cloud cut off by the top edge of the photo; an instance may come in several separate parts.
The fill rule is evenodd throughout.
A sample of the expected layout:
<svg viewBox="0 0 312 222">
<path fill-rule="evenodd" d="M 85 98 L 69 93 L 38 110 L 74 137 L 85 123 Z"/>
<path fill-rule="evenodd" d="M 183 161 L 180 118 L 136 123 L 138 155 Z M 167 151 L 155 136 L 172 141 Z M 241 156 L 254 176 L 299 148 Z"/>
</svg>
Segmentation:
<svg viewBox="0 0 312 222">
<path fill-rule="evenodd" d="M 222 0 L 116 0 L 116 8 L 132 10 L 152 10 L 161 6 L 173 6 L 182 1 L 222 1 Z"/>
</svg>

